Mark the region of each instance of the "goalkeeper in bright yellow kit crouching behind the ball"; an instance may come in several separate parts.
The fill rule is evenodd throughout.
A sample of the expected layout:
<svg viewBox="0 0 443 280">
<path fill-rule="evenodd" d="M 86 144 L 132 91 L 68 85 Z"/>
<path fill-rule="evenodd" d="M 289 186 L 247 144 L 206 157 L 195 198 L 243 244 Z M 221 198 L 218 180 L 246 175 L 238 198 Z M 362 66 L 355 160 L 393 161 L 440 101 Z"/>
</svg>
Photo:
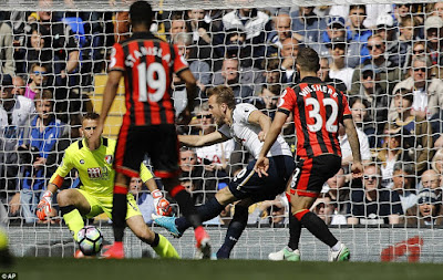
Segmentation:
<svg viewBox="0 0 443 280">
<path fill-rule="evenodd" d="M 45 219 L 51 211 L 53 194 L 62 186 L 64 177 L 72 168 L 76 168 L 81 180 L 80 188 L 70 188 L 60 191 L 56 200 L 61 214 L 74 239 L 84 227 L 83 218 L 93 218 L 102 212 L 111 217 L 112 199 L 114 189 L 115 170 L 112 167 L 114 149 L 116 142 L 101 137 L 101 146 L 95 151 L 90 151 L 87 146 L 89 138 L 97 126 L 100 115 L 87 113 L 82 120 L 81 133 L 83 139 L 71 144 L 64 152 L 62 164 L 52 175 L 48 185 L 48 190 L 38 205 L 37 216 L 39 219 Z M 141 167 L 142 180 L 147 183 L 152 174 L 146 166 Z M 162 197 L 162 193 L 156 189 L 155 184 L 146 184 L 152 191 L 154 204 L 158 214 L 168 212 L 168 204 Z M 157 206 L 164 206 L 159 209 Z M 126 225 L 144 242 L 151 245 L 154 251 L 163 258 L 179 258 L 175 248 L 162 235 L 153 232 L 145 221 L 131 194 L 127 194 Z"/>
</svg>

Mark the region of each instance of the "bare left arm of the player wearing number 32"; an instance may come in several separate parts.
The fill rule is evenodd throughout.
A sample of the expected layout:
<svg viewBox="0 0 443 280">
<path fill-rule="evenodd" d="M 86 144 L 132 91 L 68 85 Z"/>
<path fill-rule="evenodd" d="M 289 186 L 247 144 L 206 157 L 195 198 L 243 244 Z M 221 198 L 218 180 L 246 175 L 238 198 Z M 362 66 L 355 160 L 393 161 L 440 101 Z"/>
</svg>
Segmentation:
<svg viewBox="0 0 443 280">
<path fill-rule="evenodd" d="M 265 143 L 261 147 L 260 154 L 257 158 L 254 170 L 261 177 L 261 175 L 268 176 L 267 170 L 269 168 L 269 160 L 266 158 L 270 147 L 276 142 L 278 135 L 281 133 L 288 115 L 282 112 L 277 112 L 274 117 L 274 122 L 270 125 L 269 132 L 266 135 Z"/>
</svg>

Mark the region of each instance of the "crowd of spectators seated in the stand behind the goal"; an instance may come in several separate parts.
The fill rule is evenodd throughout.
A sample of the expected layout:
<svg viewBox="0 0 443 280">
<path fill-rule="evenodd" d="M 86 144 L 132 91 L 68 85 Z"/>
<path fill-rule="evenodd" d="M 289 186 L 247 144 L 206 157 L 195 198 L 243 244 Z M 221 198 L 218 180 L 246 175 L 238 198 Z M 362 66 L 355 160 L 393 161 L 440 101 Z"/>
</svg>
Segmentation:
<svg viewBox="0 0 443 280">
<path fill-rule="evenodd" d="M 312 48 L 320 55 L 318 76 L 348 96 L 365 168 L 361 180 L 349 175 L 353 159 L 340 127 L 342 168 L 311 210 L 328 225 L 441 225 L 442 6 L 163 11 L 152 31 L 177 45 L 198 85 L 194 117 L 178 131 L 217 129 L 206 91 L 219 84 L 272 118 L 286 86 L 300 82 L 298 51 Z M 130 32 L 127 12 L 0 12 L 0 210 L 10 221 L 38 222 L 39 196 L 63 147 L 81 136 L 80 116 L 93 110 L 94 76 L 105 74 L 111 46 Z M 177 76 L 173 84 L 179 111 L 186 89 Z M 282 132 L 292 149 L 293 129 L 289 122 Z M 181 160 L 181 180 L 198 205 L 226 187 L 250 156 L 229 141 L 182 147 Z M 66 187 L 79 184 L 72 177 Z M 152 211 L 133 179 L 134 196 Z M 285 225 L 285 199 L 255 205 L 249 224 Z"/>
</svg>

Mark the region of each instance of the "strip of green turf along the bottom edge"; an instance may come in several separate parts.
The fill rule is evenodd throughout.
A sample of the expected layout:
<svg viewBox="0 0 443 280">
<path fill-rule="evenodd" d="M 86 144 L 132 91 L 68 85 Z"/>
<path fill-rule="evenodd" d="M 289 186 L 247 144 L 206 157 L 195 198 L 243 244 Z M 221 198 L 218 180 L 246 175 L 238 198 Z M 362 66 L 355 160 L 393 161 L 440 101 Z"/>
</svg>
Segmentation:
<svg viewBox="0 0 443 280">
<path fill-rule="evenodd" d="M 272 262 L 262 260 L 157 260 L 157 259 L 58 259 L 19 258 L 9 269 L 28 279 L 442 279 L 442 266 L 431 263 L 379 262 Z"/>
</svg>

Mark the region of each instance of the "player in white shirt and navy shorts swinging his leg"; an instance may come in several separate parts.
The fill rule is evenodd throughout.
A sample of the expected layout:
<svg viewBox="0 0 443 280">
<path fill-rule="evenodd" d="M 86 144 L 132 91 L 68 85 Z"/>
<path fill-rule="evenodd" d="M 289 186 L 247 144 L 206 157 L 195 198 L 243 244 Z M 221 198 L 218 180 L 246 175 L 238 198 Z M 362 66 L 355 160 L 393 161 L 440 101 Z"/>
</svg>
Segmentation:
<svg viewBox="0 0 443 280">
<path fill-rule="evenodd" d="M 269 176 L 259 177 L 254 172 L 254 165 L 270 127 L 270 118 L 251 104 L 236 105 L 234 93 L 227 86 L 219 85 L 209 90 L 208 96 L 209 111 L 219 129 L 207 135 L 179 135 L 179 142 L 186 146 L 200 147 L 234 138 L 255 158 L 230 180 L 228 187 L 220 189 L 213 199 L 197 207 L 202 219 L 209 220 L 219 215 L 226 205 L 240 200 L 235 206 L 225 242 L 217 251 L 217 259 L 226 259 L 246 227 L 249 205 L 274 199 L 276 195 L 284 193 L 296 164 L 289 145 L 278 136 L 267 155 Z M 154 217 L 154 220 L 176 237 L 181 237 L 190 227 L 184 217 Z"/>
</svg>

